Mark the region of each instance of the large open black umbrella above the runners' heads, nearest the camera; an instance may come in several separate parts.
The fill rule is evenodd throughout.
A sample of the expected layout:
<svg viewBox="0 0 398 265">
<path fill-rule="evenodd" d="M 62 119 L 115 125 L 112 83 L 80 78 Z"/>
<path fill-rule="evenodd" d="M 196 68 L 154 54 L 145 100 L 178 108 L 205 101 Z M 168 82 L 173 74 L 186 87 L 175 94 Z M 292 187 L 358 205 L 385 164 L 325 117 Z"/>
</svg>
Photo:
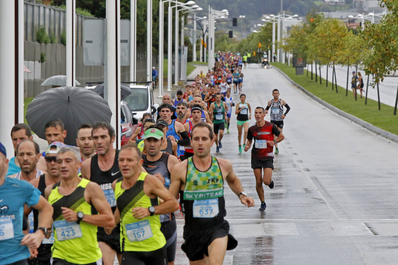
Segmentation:
<svg viewBox="0 0 398 265">
<path fill-rule="evenodd" d="M 42 139 L 45 124 L 60 119 L 65 124 L 64 143 L 76 145 L 77 130 L 82 123 L 110 122 L 108 103 L 97 93 L 82 87 L 56 87 L 37 95 L 29 104 L 26 120 L 33 132 Z"/>
</svg>

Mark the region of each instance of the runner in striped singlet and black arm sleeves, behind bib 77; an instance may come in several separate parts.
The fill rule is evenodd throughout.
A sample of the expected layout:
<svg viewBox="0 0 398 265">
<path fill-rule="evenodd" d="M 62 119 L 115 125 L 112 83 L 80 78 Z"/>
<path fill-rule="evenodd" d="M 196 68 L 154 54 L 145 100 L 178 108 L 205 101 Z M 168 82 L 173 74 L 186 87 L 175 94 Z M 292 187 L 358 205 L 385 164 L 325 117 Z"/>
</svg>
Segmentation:
<svg viewBox="0 0 398 265">
<path fill-rule="evenodd" d="M 279 99 L 279 90 L 274 89 L 272 91 L 273 99 L 268 101 L 267 107 L 265 108 L 265 114 L 268 113 L 268 109 L 271 108 L 271 123 L 275 124 L 280 132 L 283 130 L 283 120 L 289 112 L 290 107 L 283 99 Z M 286 106 L 286 112 L 283 114 L 283 106 Z M 274 137 L 276 139 L 276 137 Z M 279 154 L 278 145 L 275 144 L 275 155 Z"/>
</svg>

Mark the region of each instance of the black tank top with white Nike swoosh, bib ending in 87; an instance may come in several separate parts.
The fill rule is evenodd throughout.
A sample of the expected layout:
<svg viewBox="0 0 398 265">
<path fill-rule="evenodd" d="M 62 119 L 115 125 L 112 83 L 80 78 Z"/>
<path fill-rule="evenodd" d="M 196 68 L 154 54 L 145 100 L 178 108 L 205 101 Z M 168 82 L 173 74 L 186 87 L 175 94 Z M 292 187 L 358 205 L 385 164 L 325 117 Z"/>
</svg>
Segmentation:
<svg viewBox="0 0 398 265">
<path fill-rule="evenodd" d="M 114 213 L 116 210 L 116 201 L 115 201 L 115 193 L 112 189 L 112 182 L 117 180 L 122 176 L 119 169 L 119 150 L 116 149 L 115 159 L 113 161 L 112 167 L 107 171 L 102 171 L 100 166 L 98 166 L 98 154 L 95 154 L 91 157 L 91 165 L 90 172 L 91 177 L 90 180 L 92 182 L 100 185 L 103 193 L 105 194 L 105 198 L 108 201 L 109 205 L 112 208 L 112 212 Z M 94 213 L 94 212 L 93 212 Z M 103 229 L 103 228 L 99 228 Z"/>
</svg>

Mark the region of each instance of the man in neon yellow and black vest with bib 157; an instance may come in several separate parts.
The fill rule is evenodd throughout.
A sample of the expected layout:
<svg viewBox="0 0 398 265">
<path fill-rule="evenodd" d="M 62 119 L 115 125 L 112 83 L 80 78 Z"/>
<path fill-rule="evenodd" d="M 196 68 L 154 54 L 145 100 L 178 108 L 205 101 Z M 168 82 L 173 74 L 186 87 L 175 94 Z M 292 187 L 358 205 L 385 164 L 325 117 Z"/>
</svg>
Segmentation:
<svg viewBox="0 0 398 265">
<path fill-rule="evenodd" d="M 163 136 L 155 131 L 148 129 L 146 139 Z M 178 202 L 160 180 L 141 172 L 142 162 L 135 145 L 127 144 L 121 148 L 119 168 L 123 177 L 112 184 L 117 201 L 115 218 L 121 223 L 123 259 L 119 264 L 166 265 L 166 240 L 160 231 L 159 215 L 177 211 Z M 159 204 L 158 198 L 164 202 Z"/>
</svg>

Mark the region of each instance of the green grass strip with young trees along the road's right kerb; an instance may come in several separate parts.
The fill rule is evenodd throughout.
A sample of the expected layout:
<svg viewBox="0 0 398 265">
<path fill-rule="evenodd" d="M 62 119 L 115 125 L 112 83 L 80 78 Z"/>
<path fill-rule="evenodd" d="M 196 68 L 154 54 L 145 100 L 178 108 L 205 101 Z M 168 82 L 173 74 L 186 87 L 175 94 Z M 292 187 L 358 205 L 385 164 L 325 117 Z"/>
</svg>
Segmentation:
<svg viewBox="0 0 398 265">
<path fill-rule="evenodd" d="M 370 124 L 373 124 L 374 126 L 377 126 L 383 130 L 398 134 L 398 115 L 393 115 L 394 107 L 381 104 L 381 110 L 378 110 L 377 101 L 372 99 L 368 99 L 367 105 L 365 105 L 365 96 L 363 96 L 361 99 L 360 95 L 358 94 L 357 101 L 355 101 L 355 99 L 353 99 L 352 90 L 350 87 L 348 88 L 348 97 L 345 97 L 345 87 L 343 88 L 338 86 L 339 93 L 336 94 L 336 88 L 335 90 L 332 90 L 332 83 L 329 82 L 328 87 L 326 87 L 326 80 L 323 78 L 322 85 L 320 85 L 319 82 L 315 83 L 315 73 L 313 77 L 314 79 L 311 80 L 311 73 L 309 72 L 307 77 L 306 69 L 304 69 L 304 75 L 296 75 L 295 68 L 291 66 L 287 66 L 286 64 L 281 64 L 278 62 L 272 63 L 272 65 L 282 70 L 293 81 L 323 101 L 326 101 L 340 110 L 356 116 L 361 120 L 369 122 Z M 369 86 L 369 89 L 372 88 Z"/>
</svg>

